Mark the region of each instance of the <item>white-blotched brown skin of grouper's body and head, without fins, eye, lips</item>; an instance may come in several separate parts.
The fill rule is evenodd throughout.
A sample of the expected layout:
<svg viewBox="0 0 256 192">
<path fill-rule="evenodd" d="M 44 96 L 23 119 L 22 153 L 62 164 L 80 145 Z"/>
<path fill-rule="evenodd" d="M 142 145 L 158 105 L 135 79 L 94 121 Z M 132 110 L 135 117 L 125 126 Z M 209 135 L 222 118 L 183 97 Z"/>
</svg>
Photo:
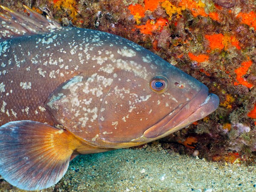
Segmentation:
<svg viewBox="0 0 256 192">
<path fill-rule="evenodd" d="M 1 49 L 0 125 L 17 120 L 61 124 L 89 142 L 115 138 L 126 143 L 142 137 L 201 89 L 204 94 L 197 95 L 194 104 L 198 107 L 208 96 L 207 87 L 191 76 L 137 44 L 104 32 L 64 28 L 3 41 Z M 81 82 L 75 78 L 69 84 L 75 76 L 83 77 Z M 165 93 L 150 89 L 154 76 L 168 79 Z M 65 81 L 66 89 L 57 89 Z M 51 93 L 56 97 L 63 91 L 66 100 L 57 99 L 58 108 L 47 104 Z"/>
</svg>

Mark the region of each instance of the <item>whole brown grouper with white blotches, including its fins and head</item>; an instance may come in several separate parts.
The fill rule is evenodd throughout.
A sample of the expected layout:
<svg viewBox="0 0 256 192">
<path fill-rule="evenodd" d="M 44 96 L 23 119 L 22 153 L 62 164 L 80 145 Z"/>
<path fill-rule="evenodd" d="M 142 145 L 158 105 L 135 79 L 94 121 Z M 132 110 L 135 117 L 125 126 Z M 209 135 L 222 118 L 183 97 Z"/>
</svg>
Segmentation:
<svg viewBox="0 0 256 192">
<path fill-rule="evenodd" d="M 0 173 L 20 189 L 54 185 L 78 154 L 157 140 L 218 107 L 200 81 L 127 39 L 1 7 Z"/>
</svg>

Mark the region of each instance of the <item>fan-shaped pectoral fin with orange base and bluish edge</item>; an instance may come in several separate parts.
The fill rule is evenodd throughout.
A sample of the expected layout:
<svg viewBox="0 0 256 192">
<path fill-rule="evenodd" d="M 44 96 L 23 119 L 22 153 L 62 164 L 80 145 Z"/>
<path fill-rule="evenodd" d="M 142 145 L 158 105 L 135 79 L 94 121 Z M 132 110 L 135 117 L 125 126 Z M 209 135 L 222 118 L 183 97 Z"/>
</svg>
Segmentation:
<svg viewBox="0 0 256 192">
<path fill-rule="evenodd" d="M 24 190 L 40 190 L 66 173 L 76 140 L 69 131 L 34 121 L 0 127 L 0 175 Z"/>
</svg>

